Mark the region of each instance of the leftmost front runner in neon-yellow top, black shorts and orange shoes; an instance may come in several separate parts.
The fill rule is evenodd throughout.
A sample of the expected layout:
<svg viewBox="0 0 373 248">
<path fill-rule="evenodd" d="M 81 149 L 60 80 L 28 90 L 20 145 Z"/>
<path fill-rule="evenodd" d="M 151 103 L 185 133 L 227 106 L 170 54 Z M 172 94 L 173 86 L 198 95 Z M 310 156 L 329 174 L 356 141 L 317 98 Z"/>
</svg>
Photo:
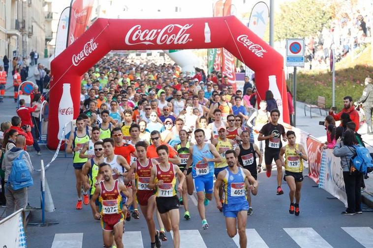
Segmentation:
<svg viewBox="0 0 373 248">
<path fill-rule="evenodd" d="M 84 120 L 82 117 L 76 118 L 77 130 L 70 133 L 70 137 L 67 143 L 66 152 L 74 153 L 72 162 L 75 171 L 76 178 L 76 191 L 78 193 L 78 202 L 76 203 L 76 209 L 82 209 L 82 167 L 87 162 L 87 158 L 79 158 L 79 153 L 82 151 L 84 144 L 90 140 L 90 133 L 84 127 Z M 84 194 L 84 204 L 89 204 L 89 197 L 87 192 Z"/>
</svg>

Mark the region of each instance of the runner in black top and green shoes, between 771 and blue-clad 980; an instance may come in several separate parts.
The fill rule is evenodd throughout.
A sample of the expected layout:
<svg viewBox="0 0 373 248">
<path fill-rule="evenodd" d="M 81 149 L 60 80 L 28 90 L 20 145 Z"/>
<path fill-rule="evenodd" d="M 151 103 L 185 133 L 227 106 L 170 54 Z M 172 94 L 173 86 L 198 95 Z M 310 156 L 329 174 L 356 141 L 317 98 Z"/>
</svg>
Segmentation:
<svg viewBox="0 0 373 248">
<path fill-rule="evenodd" d="M 189 158 L 189 147 L 190 147 L 190 145 L 193 145 L 193 144 L 188 141 L 189 135 L 188 135 L 187 131 L 181 130 L 179 132 L 179 136 L 180 136 L 180 141 L 181 142 L 179 144 L 176 144 L 174 146 L 174 148 L 178 152 L 178 155 L 179 155 L 179 158 L 180 158 L 180 161 L 181 161 L 180 165 L 179 165 L 179 168 L 184 173 L 185 166 L 187 165 L 187 160 Z M 189 171 L 184 173 L 184 175 L 187 176 L 190 172 L 191 172 L 191 168 L 189 169 Z M 182 193 L 182 195 L 180 195 L 179 201 L 180 201 L 181 205 L 184 205 L 184 210 L 185 210 L 184 218 L 186 220 L 190 220 L 190 214 L 189 214 L 189 208 L 188 208 L 187 181 L 186 180 L 184 180 L 183 193 Z"/>
</svg>

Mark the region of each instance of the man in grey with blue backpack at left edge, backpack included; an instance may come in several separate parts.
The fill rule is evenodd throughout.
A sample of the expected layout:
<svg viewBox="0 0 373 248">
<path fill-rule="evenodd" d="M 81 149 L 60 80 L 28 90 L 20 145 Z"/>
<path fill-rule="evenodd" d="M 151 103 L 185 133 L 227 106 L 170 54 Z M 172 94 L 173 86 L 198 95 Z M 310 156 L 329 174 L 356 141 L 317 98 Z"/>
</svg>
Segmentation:
<svg viewBox="0 0 373 248">
<path fill-rule="evenodd" d="M 23 148 L 26 138 L 18 135 L 16 146 L 4 154 L 1 169 L 5 171 L 6 216 L 25 208 L 27 205 L 27 187 L 32 186 L 32 164 L 30 155 Z"/>
</svg>

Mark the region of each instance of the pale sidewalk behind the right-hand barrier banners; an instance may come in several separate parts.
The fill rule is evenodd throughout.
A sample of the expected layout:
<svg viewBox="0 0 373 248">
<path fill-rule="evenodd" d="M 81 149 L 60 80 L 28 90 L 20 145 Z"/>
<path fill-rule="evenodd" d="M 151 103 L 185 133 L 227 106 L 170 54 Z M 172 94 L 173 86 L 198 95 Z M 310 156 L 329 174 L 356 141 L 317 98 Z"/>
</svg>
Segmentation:
<svg viewBox="0 0 373 248">
<path fill-rule="evenodd" d="M 321 111 L 323 116 L 320 116 L 319 110 L 312 110 L 312 118 L 310 117 L 310 110 L 306 110 L 307 116 L 304 113 L 304 103 L 297 102 L 296 106 L 296 127 L 300 128 L 318 140 L 324 142 L 326 141 L 326 131 L 323 126 L 319 126 L 319 121 L 325 120 L 325 111 Z M 359 129 L 359 134 L 365 142 L 373 146 L 373 135 L 367 135 L 366 125 Z M 366 144 L 367 149 L 373 152 L 373 147 Z M 365 192 L 362 193 L 362 200 L 369 207 L 373 208 L 373 173 L 368 174 L 369 178 L 364 179 L 366 186 Z"/>
</svg>

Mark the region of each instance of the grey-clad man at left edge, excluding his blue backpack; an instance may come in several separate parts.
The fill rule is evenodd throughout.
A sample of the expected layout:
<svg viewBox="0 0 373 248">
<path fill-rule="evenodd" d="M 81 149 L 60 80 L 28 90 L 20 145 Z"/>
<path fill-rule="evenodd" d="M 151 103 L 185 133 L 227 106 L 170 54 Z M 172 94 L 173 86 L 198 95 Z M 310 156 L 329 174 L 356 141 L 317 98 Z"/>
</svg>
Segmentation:
<svg viewBox="0 0 373 248">
<path fill-rule="evenodd" d="M 10 172 L 12 170 L 12 163 L 21 154 L 23 161 L 28 166 L 30 173 L 32 172 L 32 164 L 30 155 L 27 151 L 23 150 L 26 146 L 26 138 L 23 135 L 18 135 L 16 138 L 15 147 L 11 148 L 4 154 L 4 158 L 1 164 L 1 169 L 5 171 L 5 182 L 8 180 Z M 5 198 L 6 198 L 6 216 L 11 215 L 15 211 L 25 208 L 27 205 L 27 188 L 19 190 L 13 190 L 10 184 L 5 187 Z"/>
</svg>

